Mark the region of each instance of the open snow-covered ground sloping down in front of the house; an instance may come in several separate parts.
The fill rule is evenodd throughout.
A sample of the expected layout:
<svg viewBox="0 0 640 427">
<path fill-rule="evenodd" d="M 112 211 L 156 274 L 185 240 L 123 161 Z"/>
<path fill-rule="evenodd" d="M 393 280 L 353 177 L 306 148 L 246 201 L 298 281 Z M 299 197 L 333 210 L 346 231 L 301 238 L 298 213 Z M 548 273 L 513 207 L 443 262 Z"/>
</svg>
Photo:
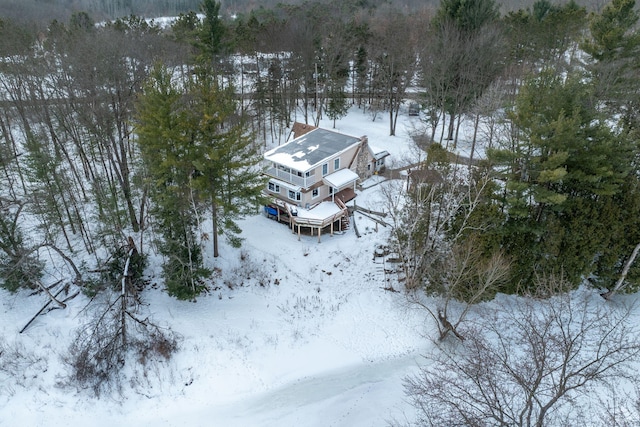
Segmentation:
<svg viewBox="0 0 640 427">
<path fill-rule="evenodd" d="M 354 109 L 336 130 L 367 135 L 401 162 L 412 151 L 407 133 L 416 119 L 404 117 L 396 137 L 388 136 L 387 120 Z M 358 205 L 384 210 L 386 184 L 369 184 Z M 434 325 L 402 292 L 385 290 L 400 288 L 374 262 L 389 230 L 355 219 L 360 238 L 351 228 L 318 243 L 249 217 L 241 221 L 242 248 L 224 246 L 215 261 L 208 254 L 209 267 L 219 269 L 217 289 L 197 302 L 178 301 L 161 286 L 146 289 L 144 314 L 177 332 L 180 349 L 160 369 L 125 366 L 132 385 L 121 395 L 98 399 L 60 385 L 61 358 L 86 321 L 87 298 L 19 334 L 46 297 L 0 290 L 0 344 L 29 356 L 18 378 L 0 370 L 0 425 L 324 427 L 411 419 L 402 379 L 429 348 Z M 159 267 L 150 272 L 159 279 Z"/>
</svg>

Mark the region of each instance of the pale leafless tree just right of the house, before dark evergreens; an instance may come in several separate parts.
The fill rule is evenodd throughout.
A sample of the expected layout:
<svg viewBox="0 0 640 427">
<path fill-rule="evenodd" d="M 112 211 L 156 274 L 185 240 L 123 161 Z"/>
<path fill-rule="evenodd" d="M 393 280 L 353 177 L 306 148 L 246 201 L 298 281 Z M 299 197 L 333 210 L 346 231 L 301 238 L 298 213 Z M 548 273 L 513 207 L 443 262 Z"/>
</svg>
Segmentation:
<svg viewBox="0 0 640 427">
<path fill-rule="evenodd" d="M 437 155 L 433 150 L 429 154 L 430 158 Z M 464 175 L 460 165 L 446 163 L 446 159 L 438 164 L 430 160 L 410 169 L 406 192 L 393 187 L 383 190 L 393 225 L 391 245 L 408 289 L 424 286 L 429 293 L 440 293 L 439 288 L 447 286 L 443 272 L 455 270 L 449 268 L 454 247 L 473 227 L 471 214 L 483 202 L 489 185 L 487 177 Z"/>
</svg>

